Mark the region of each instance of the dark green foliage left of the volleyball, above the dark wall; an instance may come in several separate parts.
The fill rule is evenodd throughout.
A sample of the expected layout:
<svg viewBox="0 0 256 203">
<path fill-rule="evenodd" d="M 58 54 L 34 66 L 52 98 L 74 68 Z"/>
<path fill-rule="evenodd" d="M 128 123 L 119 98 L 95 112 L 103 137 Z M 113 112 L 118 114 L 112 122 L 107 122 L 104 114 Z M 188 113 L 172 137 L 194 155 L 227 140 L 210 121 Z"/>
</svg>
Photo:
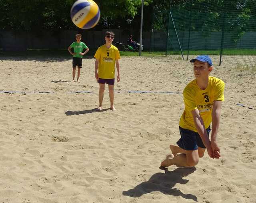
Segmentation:
<svg viewBox="0 0 256 203">
<path fill-rule="evenodd" d="M 72 0 L 1 0 L 1 27 L 6 30 L 59 30 L 74 28 L 70 20 Z"/>
</svg>

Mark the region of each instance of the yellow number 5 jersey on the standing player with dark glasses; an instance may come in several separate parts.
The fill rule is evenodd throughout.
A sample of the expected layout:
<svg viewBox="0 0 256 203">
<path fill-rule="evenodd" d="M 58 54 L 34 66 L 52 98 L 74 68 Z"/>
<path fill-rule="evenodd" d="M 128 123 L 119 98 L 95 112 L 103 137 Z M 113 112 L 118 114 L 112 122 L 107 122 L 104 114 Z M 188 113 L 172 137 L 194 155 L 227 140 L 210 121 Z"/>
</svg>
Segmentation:
<svg viewBox="0 0 256 203">
<path fill-rule="evenodd" d="M 99 60 L 98 76 L 103 79 L 115 78 L 116 60 L 120 59 L 118 48 L 111 44 L 110 48 L 106 44 L 100 46 L 94 57 Z"/>
</svg>

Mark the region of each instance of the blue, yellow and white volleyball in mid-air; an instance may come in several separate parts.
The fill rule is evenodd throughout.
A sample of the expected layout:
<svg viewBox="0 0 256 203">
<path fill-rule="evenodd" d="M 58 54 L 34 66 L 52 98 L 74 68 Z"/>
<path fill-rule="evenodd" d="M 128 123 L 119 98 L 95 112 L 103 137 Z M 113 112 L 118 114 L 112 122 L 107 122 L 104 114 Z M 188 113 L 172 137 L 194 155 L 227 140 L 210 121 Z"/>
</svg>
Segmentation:
<svg viewBox="0 0 256 203">
<path fill-rule="evenodd" d="M 90 29 L 99 22 L 100 9 L 93 0 L 77 0 L 70 10 L 70 17 L 78 28 Z"/>
</svg>

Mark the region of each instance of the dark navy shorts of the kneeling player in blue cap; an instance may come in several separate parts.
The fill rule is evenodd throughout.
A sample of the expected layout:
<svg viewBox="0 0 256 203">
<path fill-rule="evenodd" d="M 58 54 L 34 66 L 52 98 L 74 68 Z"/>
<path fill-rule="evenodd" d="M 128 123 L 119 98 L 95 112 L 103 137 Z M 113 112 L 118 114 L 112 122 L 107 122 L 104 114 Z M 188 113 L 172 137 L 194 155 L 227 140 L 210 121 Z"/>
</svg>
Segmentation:
<svg viewBox="0 0 256 203">
<path fill-rule="evenodd" d="M 206 131 L 209 137 L 209 134 L 211 131 L 210 126 L 206 128 Z M 182 149 L 194 151 L 194 150 L 197 150 L 198 147 L 201 147 L 204 149 L 206 148 L 204 146 L 204 143 L 200 135 L 192 130 L 188 130 L 180 127 L 180 136 L 181 138 L 176 143 Z"/>
</svg>

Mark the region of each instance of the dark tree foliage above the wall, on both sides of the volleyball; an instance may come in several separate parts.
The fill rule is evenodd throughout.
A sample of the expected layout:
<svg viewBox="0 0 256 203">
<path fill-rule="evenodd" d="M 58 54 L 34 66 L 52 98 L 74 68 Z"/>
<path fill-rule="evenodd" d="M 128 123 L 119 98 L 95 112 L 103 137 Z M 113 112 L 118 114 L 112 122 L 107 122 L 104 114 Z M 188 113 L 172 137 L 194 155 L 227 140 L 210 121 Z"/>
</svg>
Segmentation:
<svg viewBox="0 0 256 203">
<path fill-rule="evenodd" d="M 0 28 L 4 30 L 76 30 L 70 8 L 76 0 L 0 0 Z M 145 7 L 153 0 L 145 0 Z M 99 29 L 132 24 L 141 0 L 96 0 L 100 7 Z"/>
</svg>

